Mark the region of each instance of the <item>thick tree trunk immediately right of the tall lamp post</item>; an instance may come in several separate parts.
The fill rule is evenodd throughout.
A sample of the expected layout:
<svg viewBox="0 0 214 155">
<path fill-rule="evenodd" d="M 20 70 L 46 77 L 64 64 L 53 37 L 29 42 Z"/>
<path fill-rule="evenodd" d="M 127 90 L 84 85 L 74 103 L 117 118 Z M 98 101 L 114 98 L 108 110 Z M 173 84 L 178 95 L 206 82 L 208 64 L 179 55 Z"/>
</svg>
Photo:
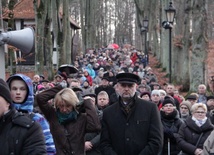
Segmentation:
<svg viewBox="0 0 214 155">
<path fill-rule="evenodd" d="M 173 81 L 183 85 L 184 90 L 189 89 L 189 52 L 191 46 L 190 16 L 191 0 L 173 3 L 176 12 L 176 25 L 173 28 L 175 36 L 173 38 Z"/>
</svg>

